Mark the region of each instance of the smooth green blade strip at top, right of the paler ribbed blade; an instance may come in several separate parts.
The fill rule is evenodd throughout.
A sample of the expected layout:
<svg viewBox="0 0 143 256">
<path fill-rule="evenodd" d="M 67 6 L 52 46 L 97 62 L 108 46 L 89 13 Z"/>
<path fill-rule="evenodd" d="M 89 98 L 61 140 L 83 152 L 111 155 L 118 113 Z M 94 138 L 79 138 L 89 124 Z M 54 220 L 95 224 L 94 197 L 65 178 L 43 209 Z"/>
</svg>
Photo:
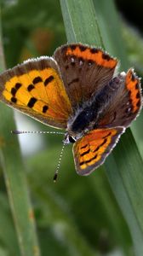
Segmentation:
<svg viewBox="0 0 143 256">
<path fill-rule="evenodd" d="M 123 45 L 119 17 L 117 16 L 113 1 L 93 0 L 93 3 L 100 27 L 100 34 L 106 50 L 121 61 L 123 69 L 127 69 L 129 66 L 127 55 Z M 112 13 L 112 15 L 110 15 L 110 13 Z"/>
</svg>

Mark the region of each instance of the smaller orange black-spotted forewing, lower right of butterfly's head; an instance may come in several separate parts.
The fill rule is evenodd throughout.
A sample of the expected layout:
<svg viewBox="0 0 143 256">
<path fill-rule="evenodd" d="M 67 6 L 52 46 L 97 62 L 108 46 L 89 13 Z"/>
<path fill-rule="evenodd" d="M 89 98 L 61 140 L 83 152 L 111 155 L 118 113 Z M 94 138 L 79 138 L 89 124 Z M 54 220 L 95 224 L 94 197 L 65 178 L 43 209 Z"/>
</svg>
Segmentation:
<svg viewBox="0 0 143 256">
<path fill-rule="evenodd" d="M 79 175 L 89 175 L 103 164 L 122 135 L 123 127 L 89 131 L 73 145 L 75 166 Z"/>
</svg>

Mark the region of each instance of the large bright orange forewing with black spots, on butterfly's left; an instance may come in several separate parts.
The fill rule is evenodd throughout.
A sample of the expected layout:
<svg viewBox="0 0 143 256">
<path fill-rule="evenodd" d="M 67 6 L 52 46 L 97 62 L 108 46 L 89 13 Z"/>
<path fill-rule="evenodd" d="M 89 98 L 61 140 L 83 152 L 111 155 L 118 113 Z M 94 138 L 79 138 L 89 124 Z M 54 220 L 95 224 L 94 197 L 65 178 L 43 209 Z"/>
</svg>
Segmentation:
<svg viewBox="0 0 143 256">
<path fill-rule="evenodd" d="M 56 61 L 40 57 L 0 74 L 0 99 L 46 125 L 66 128 L 72 105 Z"/>
</svg>

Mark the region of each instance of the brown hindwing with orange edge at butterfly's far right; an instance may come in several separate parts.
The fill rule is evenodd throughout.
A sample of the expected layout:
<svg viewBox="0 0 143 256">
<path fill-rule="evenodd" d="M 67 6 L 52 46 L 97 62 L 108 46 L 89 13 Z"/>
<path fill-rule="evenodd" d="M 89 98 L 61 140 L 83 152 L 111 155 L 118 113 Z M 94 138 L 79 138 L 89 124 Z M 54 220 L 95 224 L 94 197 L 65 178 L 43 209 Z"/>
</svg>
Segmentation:
<svg viewBox="0 0 143 256">
<path fill-rule="evenodd" d="M 99 122 L 99 127 L 128 127 L 130 123 L 140 113 L 142 107 L 142 94 L 140 79 L 136 76 L 133 69 L 128 73 L 121 73 L 112 79 L 106 86 L 110 104 L 106 107 Z"/>
</svg>

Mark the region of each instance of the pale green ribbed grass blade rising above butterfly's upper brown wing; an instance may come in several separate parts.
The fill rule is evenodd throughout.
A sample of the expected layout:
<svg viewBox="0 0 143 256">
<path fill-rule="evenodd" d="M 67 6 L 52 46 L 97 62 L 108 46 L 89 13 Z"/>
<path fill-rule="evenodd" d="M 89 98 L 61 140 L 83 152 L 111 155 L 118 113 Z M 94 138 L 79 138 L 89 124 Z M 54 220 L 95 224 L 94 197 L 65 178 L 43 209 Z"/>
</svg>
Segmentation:
<svg viewBox="0 0 143 256">
<path fill-rule="evenodd" d="M 60 0 L 60 4 L 68 42 L 82 42 L 103 47 L 99 26 L 95 18 L 93 2 L 86 0 Z"/>
</svg>

